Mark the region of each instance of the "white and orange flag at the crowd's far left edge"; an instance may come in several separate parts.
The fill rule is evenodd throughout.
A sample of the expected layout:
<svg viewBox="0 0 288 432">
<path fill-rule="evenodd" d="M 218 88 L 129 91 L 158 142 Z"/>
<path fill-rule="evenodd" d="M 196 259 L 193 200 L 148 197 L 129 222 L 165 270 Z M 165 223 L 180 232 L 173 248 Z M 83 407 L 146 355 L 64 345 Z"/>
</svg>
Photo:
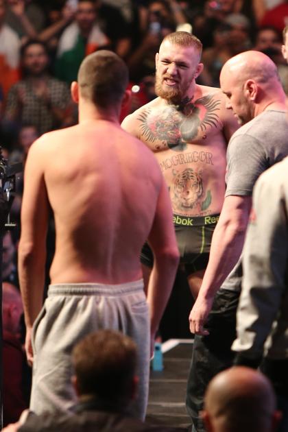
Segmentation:
<svg viewBox="0 0 288 432">
<path fill-rule="evenodd" d="M 0 0 L 0 86 L 3 96 L 19 80 L 20 39 L 5 23 L 5 0 Z"/>
</svg>

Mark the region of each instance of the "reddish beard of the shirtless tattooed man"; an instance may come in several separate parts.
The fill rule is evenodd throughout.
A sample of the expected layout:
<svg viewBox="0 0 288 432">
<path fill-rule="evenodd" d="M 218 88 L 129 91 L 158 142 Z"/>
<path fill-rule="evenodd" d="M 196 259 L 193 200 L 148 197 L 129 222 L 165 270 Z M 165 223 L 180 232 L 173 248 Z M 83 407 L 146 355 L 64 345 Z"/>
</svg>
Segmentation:
<svg viewBox="0 0 288 432">
<path fill-rule="evenodd" d="M 169 75 L 159 75 L 156 71 L 155 93 L 162 99 L 167 100 L 169 104 L 179 105 L 184 99 L 186 92 L 191 84 L 191 80 L 185 81 L 182 84 L 177 82 L 174 86 L 166 86 L 164 84 L 165 78 L 171 78 Z"/>
</svg>

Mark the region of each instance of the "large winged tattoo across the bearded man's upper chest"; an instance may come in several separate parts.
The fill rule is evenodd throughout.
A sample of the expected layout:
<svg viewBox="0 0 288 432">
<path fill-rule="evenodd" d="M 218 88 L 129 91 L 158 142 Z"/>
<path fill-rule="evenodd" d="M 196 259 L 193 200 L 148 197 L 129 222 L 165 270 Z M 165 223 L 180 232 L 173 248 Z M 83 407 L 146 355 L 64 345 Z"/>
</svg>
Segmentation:
<svg viewBox="0 0 288 432">
<path fill-rule="evenodd" d="M 181 152 L 200 133 L 205 139 L 208 128 L 217 128 L 219 105 L 219 100 L 208 95 L 181 107 L 166 106 L 159 111 L 148 108 L 138 118 L 141 139 L 153 143 L 155 150 L 169 147 Z"/>
</svg>

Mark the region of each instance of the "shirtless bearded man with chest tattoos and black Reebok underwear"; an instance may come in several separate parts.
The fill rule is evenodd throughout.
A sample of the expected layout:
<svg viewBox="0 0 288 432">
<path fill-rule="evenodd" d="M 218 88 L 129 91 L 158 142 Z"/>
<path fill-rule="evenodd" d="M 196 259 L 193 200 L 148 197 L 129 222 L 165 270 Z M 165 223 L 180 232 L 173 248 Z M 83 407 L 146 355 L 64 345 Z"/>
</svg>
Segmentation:
<svg viewBox="0 0 288 432">
<path fill-rule="evenodd" d="M 156 54 L 157 99 L 122 127 L 154 152 L 169 187 L 180 265 L 197 297 L 224 200 L 226 146 L 239 127 L 219 88 L 200 86 L 202 43 L 187 32 L 165 37 Z M 145 245 L 143 272 L 153 255 Z"/>
</svg>

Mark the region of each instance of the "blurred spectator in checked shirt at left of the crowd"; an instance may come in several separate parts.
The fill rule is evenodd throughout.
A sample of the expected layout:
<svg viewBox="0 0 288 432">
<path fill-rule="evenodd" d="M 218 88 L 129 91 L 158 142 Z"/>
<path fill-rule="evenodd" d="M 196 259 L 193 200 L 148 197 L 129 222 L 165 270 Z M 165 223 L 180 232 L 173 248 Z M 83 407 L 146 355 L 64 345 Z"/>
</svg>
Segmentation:
<svg viewBox="0 0 288 432">
<path fill-rule="evenodd" d="M 72 122 L 69 88 L 49 75 L 45 44 L 30 40 L 21 57 L 24 77 L 8 93 L 5 119 L 32 124 L 40 134 Z"/>
</svg>

